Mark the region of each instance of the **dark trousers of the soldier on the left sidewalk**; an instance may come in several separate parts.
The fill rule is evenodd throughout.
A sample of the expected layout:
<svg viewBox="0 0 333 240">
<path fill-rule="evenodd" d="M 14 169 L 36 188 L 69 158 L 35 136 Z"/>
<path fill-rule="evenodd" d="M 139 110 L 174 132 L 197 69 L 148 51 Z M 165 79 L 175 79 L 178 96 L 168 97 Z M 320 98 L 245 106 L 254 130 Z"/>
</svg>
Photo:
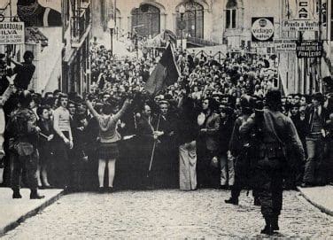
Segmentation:
<svg viewBox="0 0 333 240">
<path fill-rule="evenodd" d="M 27 185 L 30 190 L 37 190 L 37 165 L 38 165 L 38 151 L 35 150 L 31 155 L 19 156 L 17 153 L 13 154 L 13 170 L 12 170 L 12 190 L 19 190 L 22 178 L 22 170 L 26 170 Z"/>
</svg>

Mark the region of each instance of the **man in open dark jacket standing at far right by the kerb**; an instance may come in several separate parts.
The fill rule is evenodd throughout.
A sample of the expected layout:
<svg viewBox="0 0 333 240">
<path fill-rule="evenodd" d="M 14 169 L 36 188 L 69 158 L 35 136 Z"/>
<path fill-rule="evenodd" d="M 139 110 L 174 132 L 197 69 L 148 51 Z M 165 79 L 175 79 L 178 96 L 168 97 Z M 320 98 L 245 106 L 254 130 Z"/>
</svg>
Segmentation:
<svg viewBox="0 0 333 240">
<path fill-rule="evenodd" d="M 325 184 L 323 167 L 324 127 L 329 120 L 329 112 L 323 106 L 324 97 L 321 93 L 314 93 L 312 104 L 306 107 L 306 169 L 302 187 Z"/>
</svg>

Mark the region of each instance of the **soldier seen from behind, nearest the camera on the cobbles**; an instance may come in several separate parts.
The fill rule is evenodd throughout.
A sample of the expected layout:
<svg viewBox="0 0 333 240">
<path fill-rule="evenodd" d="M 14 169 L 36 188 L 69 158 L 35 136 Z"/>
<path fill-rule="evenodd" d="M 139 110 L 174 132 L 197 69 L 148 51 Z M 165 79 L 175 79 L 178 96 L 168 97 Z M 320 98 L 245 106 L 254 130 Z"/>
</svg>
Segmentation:
<svg viewBox="0 0 333 240">
<path fill-rule="evenodd" d="M 266 226 L 261 233 L 271 235 L 279 229 L 278 216 L 283 206 L 283 167 L 287 165 L 285 146 L 290 147 L 295 156 L 305 159 L 304 149 L 297 130 L 289 117 L 280 112 L 281 92 L 270 89 L 266 96 L 266 107 L 244 121 L 239 128 L 240 135 L 248 135 L 257 128 L 260 135 L 257 177 L 261 213 Z"/>
</svg>

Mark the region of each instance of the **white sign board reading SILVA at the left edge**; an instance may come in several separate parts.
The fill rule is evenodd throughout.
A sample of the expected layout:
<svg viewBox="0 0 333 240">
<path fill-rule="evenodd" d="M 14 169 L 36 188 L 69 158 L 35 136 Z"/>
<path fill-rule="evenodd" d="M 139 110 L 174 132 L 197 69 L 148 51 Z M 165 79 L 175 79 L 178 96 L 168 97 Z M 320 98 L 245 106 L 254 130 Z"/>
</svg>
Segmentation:
<svg viewBox="0 0 333 240">
<path fill-rule="evenodd" d="M 0 45 L 24 42 L 24 22 L 0 22 Z"/>
</svg>

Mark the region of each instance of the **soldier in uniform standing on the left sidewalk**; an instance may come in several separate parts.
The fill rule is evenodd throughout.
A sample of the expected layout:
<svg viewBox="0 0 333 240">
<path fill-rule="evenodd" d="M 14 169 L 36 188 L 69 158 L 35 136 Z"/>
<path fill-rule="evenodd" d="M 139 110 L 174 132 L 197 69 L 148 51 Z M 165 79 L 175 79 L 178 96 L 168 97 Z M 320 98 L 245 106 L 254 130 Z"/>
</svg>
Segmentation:
<svg viewBox="0 0 333 240">
<path fill-rule="evenodd" d="M 14 155 L 12 172 L 12 198 L 21 198 L 19 193 L 22 169 L 27 171 L 27 183 L 31 190 L 30 199 L 41 199 L 37 193 L 37 165 L 39 154 L 36 148 L 38 132 L 35 112 L 28 108 L 32 100 L 31 94 L 25 90 L 19 94 L 19 108 L 12 112 L 8 123 L 8 131 L 12 136 L 11 150 Z"/>
</svg>

